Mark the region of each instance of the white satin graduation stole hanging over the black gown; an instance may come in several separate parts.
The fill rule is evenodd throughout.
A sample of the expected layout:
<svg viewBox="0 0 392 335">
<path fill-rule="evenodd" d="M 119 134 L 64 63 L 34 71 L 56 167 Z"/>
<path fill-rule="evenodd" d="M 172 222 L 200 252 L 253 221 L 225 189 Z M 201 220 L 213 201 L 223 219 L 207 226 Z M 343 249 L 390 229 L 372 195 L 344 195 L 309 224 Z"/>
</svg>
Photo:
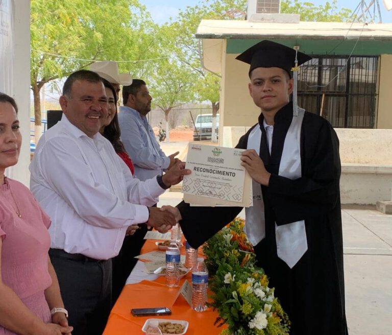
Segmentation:
<svg viewBox="0 0 392 335">
<path fill-rule="evenodd" d="M 301 128 L 305 110 L 299 108 L 298 116 L 293 116 L 283 144 L 282 158 L 279 165 L 279 176 L 290 179 L 301 178 Z M 261 129 L 255 127 L 248 137 L 247 149 L 260 151 Z M 253 206 L 246 208 L 246 224 L 244 230 L 252 245 L 258 244 L 265 237 L 264 202 L 259 183 L 252 180 Z M 297 221 L 278 226 L 275 223 L 276 245 L 278 257 L 290 269 L 308 250 L 305 221 Z"/>
</svg>

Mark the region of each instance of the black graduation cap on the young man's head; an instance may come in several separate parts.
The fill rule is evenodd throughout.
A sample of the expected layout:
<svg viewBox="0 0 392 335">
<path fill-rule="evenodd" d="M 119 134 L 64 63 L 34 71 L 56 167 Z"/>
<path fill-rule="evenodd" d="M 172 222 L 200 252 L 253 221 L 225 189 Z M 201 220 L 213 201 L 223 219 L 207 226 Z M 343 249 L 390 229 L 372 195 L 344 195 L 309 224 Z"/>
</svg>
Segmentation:
<svg viewBox="0 0 392 335">
<path fill-rule="evenodd" d="M 263 40 L 251 46 L 236 59 L 251 65 L 249 75 L 256 67 L 280 67 L 286 70 L 292 78 L 291 68 L 296 65 L 296 50 L 280 43 Z M 298 65 L 301 65 L 312 58 L 298 52 L 297 59 Z"/>
</svg>

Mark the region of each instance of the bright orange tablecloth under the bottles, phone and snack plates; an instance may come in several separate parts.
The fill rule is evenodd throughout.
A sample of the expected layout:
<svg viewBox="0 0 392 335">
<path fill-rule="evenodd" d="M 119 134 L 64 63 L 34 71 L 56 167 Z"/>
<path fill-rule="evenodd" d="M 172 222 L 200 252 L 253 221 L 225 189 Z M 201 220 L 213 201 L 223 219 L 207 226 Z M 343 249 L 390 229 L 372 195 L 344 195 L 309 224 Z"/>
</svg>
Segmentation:
<svg viewBox="0 0 392 335">
<path fill-rule="evenodd" d="M 158 250 L 156 241 L 148 240 L 144 244 L 141 254 Z M 185 247 L 180 249 L 185 253 Z M 188 273 L 181 281 L 191 282 L 191 274 Z M 149 318 L 161 318 L 172 320 L 186 320 L 189 322 L 187 335 L 217 335 L 223 327 L 214 326 L 218 314 L 208 308 L 205 312 L 195 312 L 185 299 L 176 296 L 180 288 L 169 289 L 165 285 L 165 278 L 160 277 L 155 281 L 143 280 L 137 284 L 125 285 L 116 304 L 114 305 L 104 335 L 143 334 L 141 327 Z M 169 307 L 171 315 L 161 317 L 134 317 L 131 308 L 143 307 Z"/>
</svg>

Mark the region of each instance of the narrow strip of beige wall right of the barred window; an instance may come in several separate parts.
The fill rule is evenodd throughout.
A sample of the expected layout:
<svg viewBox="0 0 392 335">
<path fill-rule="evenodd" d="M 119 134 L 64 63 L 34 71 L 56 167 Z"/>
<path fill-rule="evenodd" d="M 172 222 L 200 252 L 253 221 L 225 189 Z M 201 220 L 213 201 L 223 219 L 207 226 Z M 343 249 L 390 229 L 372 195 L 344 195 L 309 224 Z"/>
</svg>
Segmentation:
<svg viewBox="0 0 392 335">
<path fill-rule="evenodd" d="M 381 55 L 377 129 L 392 129 L 392 55 Z"/>
</svg>

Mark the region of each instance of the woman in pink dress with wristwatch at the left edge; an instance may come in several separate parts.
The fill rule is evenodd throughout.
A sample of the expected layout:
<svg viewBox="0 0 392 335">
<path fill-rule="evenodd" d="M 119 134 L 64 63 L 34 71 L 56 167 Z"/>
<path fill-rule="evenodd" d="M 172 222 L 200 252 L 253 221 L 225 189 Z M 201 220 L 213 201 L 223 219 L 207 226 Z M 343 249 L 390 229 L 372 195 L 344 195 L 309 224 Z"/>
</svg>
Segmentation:
<svg viewBox="0 0 392 335">
<path fill-rule="evenodd" d="M 47 254 L 51 221 L 26 186 L 4 175 L 20 145 L 17 106 L 0 92 L 0 335 L 69 335 Z"/>
</svg>

